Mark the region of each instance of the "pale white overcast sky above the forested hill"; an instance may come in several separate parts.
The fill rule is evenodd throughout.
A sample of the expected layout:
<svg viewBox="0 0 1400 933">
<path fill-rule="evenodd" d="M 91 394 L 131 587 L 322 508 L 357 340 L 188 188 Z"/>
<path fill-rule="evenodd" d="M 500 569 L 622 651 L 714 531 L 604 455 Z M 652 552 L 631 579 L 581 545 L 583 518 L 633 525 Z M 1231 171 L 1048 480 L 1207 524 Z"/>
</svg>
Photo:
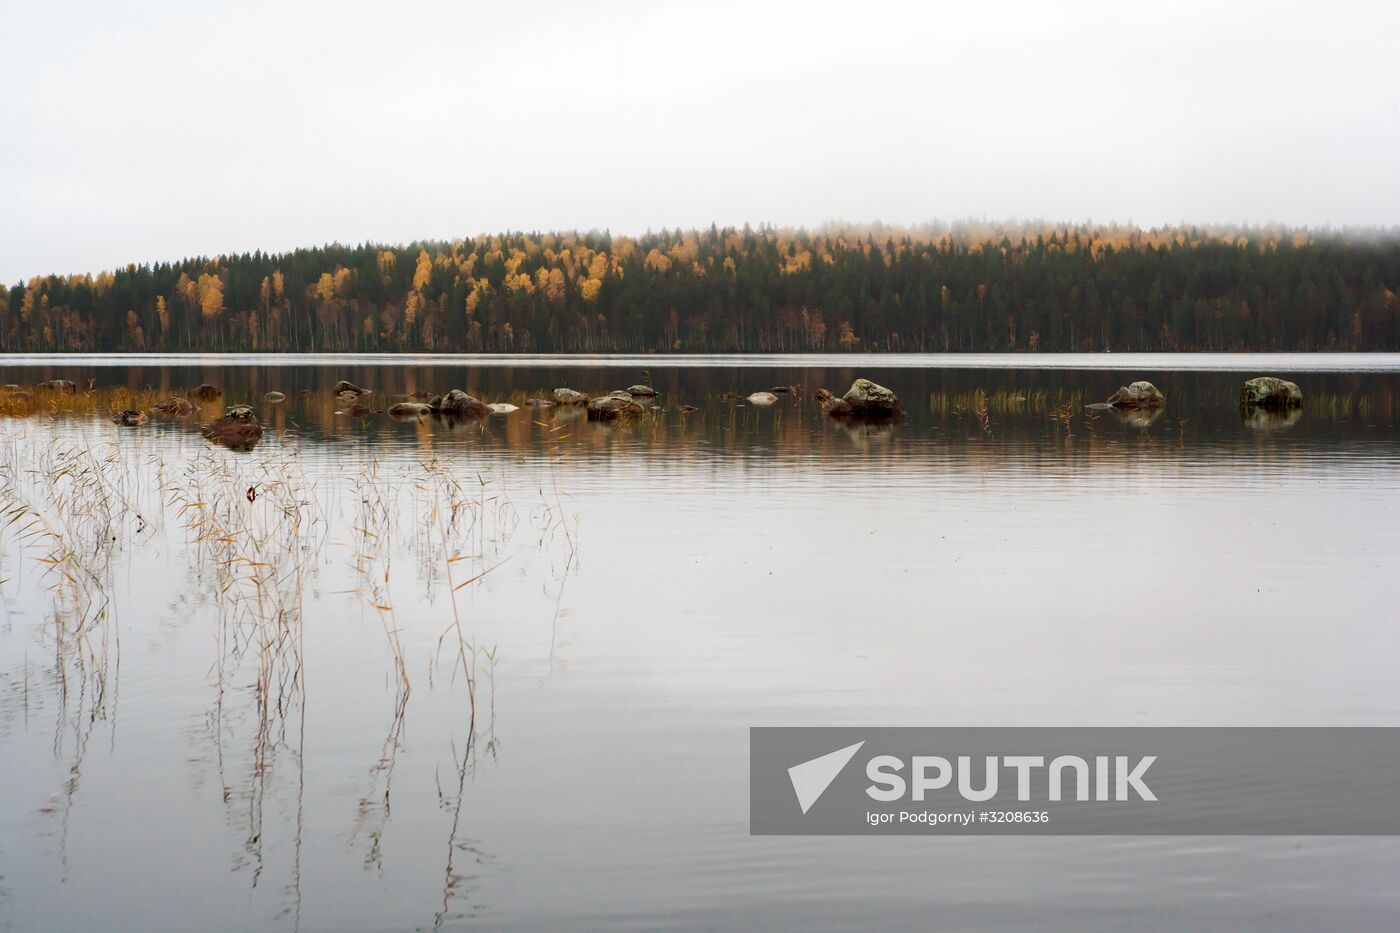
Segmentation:
<svg viewBox="0 0 1400 933">
<path fill-rule="evenodd" d="M 11 3 L 0 280 L 505 228 L 1400 223 L 1400 3 Z"/>
</svg>

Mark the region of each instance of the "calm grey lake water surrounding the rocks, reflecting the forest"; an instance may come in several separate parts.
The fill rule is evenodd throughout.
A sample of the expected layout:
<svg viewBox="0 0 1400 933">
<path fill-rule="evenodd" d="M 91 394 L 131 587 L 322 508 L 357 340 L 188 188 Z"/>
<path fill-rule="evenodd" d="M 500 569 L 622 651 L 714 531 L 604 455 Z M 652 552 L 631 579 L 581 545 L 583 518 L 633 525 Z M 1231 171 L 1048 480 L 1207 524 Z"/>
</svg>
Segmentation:
<svg viewBox="0 0 1400 933">
<path fill-rule="evenodd" d="M 0 930 L 1393 929 L 1387 838 L 748 835 L 750 726 L 1400 726 L 1400 361 L 1032 363 L 0 366 L 266 426 L 0 417 Z"/>
</svg>

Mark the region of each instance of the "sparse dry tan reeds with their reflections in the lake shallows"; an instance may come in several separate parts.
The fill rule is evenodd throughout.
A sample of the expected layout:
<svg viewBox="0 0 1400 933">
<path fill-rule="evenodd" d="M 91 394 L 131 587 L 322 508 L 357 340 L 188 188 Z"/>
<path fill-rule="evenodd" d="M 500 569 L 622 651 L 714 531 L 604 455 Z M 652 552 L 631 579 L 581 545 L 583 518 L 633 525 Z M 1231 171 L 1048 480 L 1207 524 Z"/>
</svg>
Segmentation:
<svg viewBox="0 0 1400 933">
<path fill-rule="evenodd" d="M 13 394 L 11 394 L 13 395 Z M 566 509 L 557 475 L 524 495 L 500 471 L 426 454 L 381 462 L 370 448 L 325 476 L 308 472 L 295 431 L 279 430 L 251 454 L 213 448 L 190 431 L 182 440 L 106 424 L 109 405 L 139 406 L 164 394 L 81 391 L 49 394 L 48 413 L 70 419 L 62 429 L 45 412 L 0 419 L 0 577 L 42 580 L 49 614 L 42 626 L 48 658 L 38 671 L 52 682 L 62 735 L 73 761 L 52 813 L 66 820 L 78 792 L 77 775 L 95 726 L 115 716 L 119 626 L 112 625 L 139 584 L 120 573 L 127 559 L 160 544 L 171 573 L 185 574 L 182 598 L 204 608 L 211 625 L 210 700 L 204 734 L 211 748 L 230 825 L 242 829 L 238 866 L 265 869 L 266 835 L 283 824 L 265 820 L 276 782 L 295 782 L 291 821 L 301 846 L 302 749 L 305 748 L 305 621 L 332 545 L 343 545 L 351 590 L 384 626 L 386 677 L 395 684 L 393 716 L 374 769 L 371 796 L 382 813 L 363 806 L 370 838 L 367 863 L 382 857 L 392 769 L 413 695 L 414 650 L 465 681 L 465 741 L 454 738 L 459 780 L 445 804 L 461 820 L 466 775 L 476 755 L 494 754 L 494 682 L 500 651 L 476 632 L 470 594 L 524 545 L 567 545 L 564 574 L 577 555 L 577 521 Z M 35 399 L 0 401 L 7 413 Z M 8 405 L 8 408 L 6 408 Z M 197 417 L 197 416 L 196 416 Z M 517 415 L 515 417 L 526 417 Z M 563 438 L 570 423 L 547 429 Z M 559 457 L 566 448 L 559 447 Z M 405 565 L 405 555 L 409 563 Z M 403 570 L 407 569 L 407 579 Z M 400 623 L 402 593 L 421 586 L 430 607 L 426 646 Z M 546 584 L 547 586 L 547 584 Z M 557 628 L 559 598 L 554 602 Z M 445 605 L 444 605 L 445 600 Z M 421 629 L 420 629 L 421 630 Z M 435 637 L 435 642 L 433 639 Z M 553 630 L 552 630 L 553 644 Z M 22 672 L 27 691 L 35 675 Z M 15 682 L 21 678 L 15 677 Z M 288 770 L 288 763 L 291 765 Z M 455 870 L 448 855 L 444 905 Z M 300 864 L 300 862 L 298 862 Z M 300 890 L 300 869 L 288 891 Z"/>
</svg>

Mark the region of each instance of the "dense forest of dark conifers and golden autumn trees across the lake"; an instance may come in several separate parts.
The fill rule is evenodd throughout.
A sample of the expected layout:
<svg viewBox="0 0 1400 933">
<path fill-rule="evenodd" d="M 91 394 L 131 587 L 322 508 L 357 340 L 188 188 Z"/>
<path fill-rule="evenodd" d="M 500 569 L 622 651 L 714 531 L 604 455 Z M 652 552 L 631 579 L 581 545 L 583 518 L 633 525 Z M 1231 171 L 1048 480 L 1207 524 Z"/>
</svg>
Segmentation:
<svg viewBox="0 0 1400 933">
<path fill-rule="evenodd" d="M 1397 318 L 1392 231 L 711 227 L 35 277 L 0 350 L 1400 350 Z"/>
</svg>

